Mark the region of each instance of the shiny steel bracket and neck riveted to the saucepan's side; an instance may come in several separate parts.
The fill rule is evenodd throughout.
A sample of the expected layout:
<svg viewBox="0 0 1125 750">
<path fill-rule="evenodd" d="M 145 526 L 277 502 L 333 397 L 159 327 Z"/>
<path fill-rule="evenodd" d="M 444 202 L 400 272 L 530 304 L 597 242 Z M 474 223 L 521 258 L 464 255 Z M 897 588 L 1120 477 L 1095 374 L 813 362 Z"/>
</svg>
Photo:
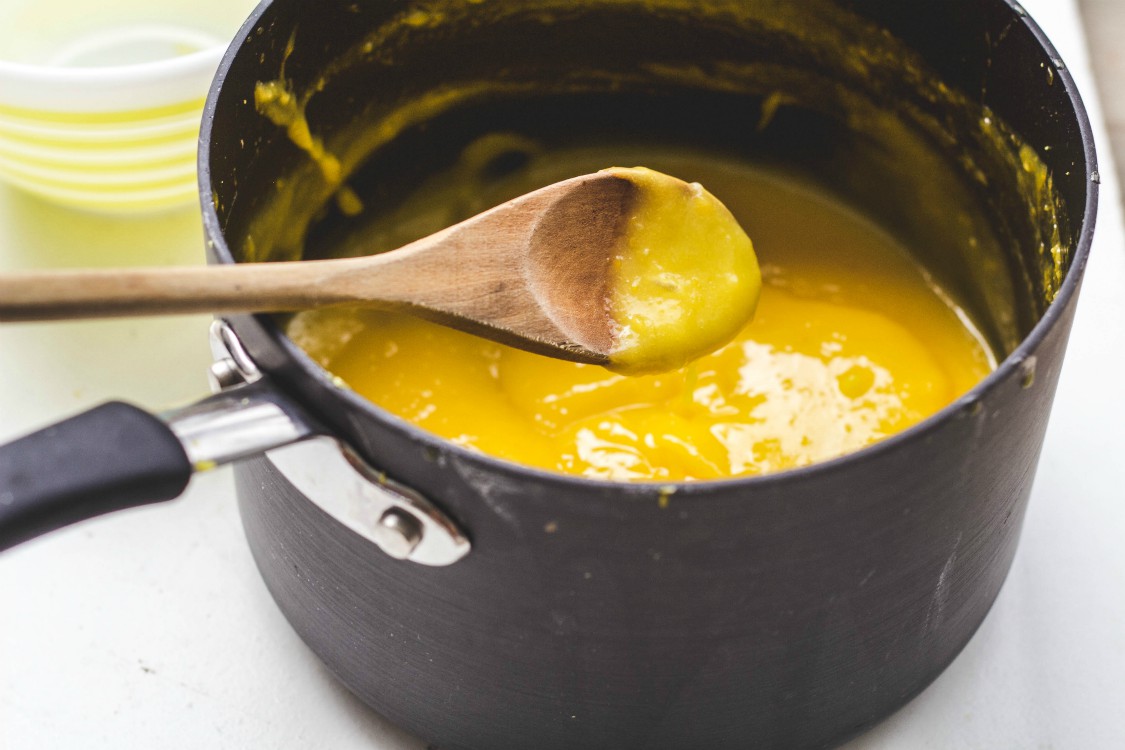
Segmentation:
<svg viewBox="0 0 1125 750">
<path fill-rule="evenodd" d="M 468 537 L 432 503 L 372 468 L 279 394 L 224 320 L 212 324 L 215 396 L 164 416 L 199 469 L 252 455 L 396 560 L 448 566 Z"/>
</svg>

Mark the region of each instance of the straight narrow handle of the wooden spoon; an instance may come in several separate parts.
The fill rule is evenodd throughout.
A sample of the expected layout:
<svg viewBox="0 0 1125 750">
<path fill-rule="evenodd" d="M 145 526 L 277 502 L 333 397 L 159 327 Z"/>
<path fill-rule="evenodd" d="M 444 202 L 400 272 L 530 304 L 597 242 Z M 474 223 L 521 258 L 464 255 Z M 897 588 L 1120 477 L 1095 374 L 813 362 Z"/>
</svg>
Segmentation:
<svg viewBox="0 0 1125 750">
<path fill-rule="evenodd" d="M 323 307 L 354 299 L 330 283 L 349 271 L 354 266 L 313 261 L 6 273 L 0 322 Z"/>
</svg>

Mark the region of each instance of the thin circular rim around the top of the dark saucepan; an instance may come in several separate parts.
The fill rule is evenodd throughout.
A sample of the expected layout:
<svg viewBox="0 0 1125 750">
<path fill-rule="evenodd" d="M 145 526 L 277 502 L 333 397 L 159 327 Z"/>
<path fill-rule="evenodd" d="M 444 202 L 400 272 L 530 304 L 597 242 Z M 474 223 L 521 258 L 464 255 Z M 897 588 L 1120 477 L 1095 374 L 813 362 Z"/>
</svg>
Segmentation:
<svg viewBox="0 0 1125 750">
<path fill-rule="evenodd" d="M 1044 52 L 1047 53 L 1050 58 L 1061 60 L 1058 51 L 1047 38 L 1046 34 L 1018 2 L 1015 0 L 996 1 L 1007 6 L 1014 17 L 1027 27 L 1030 34 L 1035 37 L 1037 44 Z M 220 263 L 235 263 L 236 261 L 234 260 L 234 255 L 232 254 L 226 242 L 226 234 L 222 228 L 218 211 L 214 204 L 214 195 L 216 193 L 212 182 L 210 146 L 215 114 L 218 108 L 218 99 L 223 91 L 224 82 L 226 81 L 232 64 L 242 52 L 250 34 L 253 33 L 262 16 L 269 10 L 270 7 L 272 7 L 272 4 L 273 0 L 262 0 L 262 2 L 259 3 L 235 35 L 231 46 L 227 48 L 226 54 L 219 63 L 218 73 L 216 74 L 215 81 L 210 87 L 207 96 L 207 102 L 204 108 L 202 126 L 199 134 L 198 155 L 199 199 L 202 207 L 204 228 L 208 237 L 208 243 L 216 260 Z M 867 445 L 863 449 L 834 459 L 818 461 L 807 467 L 788 469 L 760 476 L 693 481 L 623 482 L 575 477 L 552 472 L 546 469 L 523 466 L 513 461 L 470 451 L 466 448 L 456 445 L 450 441 L 416 427 L 405 419 L 390 414 L 377 404 L 369 401 L 352 390 L 340 388 L 333 383 L 332 374 L 316 363 L 288 336 L 286 336 L 270 316 L 252 316 L 254 325 L 260 328 L 261 333 L 267 336 L 271 344 L 282 350 L 287 358 L 291 362 L 295 362 L 305 376 L 320 381 L 323 387 L 330 389 L 338 398 L 342 399 L 350 409 L 357 409 L 366 413 L 379 422 L 389 425 L 404 440 L 407 440 L 411 443 L 418 444 L 426 449 L 438 450 L 442 453 L 449 454 L 458 461 L 477 463 L 490 471 L 511 477 L 533 479 L 537 482 L 565 486 L 567 488 L 585 488 L 592 493 L 604 493 L 609 490 L 621 495 L 623 498 L 632 497 L 640 499 L 641 497 L 650 497 L 654 491 L 667 491 L 668 488 L 674 488 L 677 497 L 682 495 L 706 495 L 713 491 L 729 491 L 731 489 L 741 489 L 744 493 L 750 494 L 756 489 L 765 490 L 775 485 L 788 485 L 790 482 L 802 481 L 819 475 L 836 472 L 842 469 L 846 469 L 852 464 L 858 464 L 875 459 L 888 451 L 900 450 L 902 445 L 915 443 L 917 441 L 925 441 L 938 425 L 948 419 L 955 418 L 957 413 L 962 409 L 971 408 L 973 404 L 982 399 L 988 392 L 998 388 L 1002 382 L 1011 378 L 1015 371 L 1024 367 L 1025 361 L 1034 356 L 1034 352 L 1040 347 L 1047 333 L 1058 324 L 1059 318 L 1064 314 L 1064 310 L 1070 305 L 1072 297 L 1078 292 L 1082 273 L 1089 260 L 1098 211 L 1098 195 L 1100 186 L 1097 179 L 1097 152 L 1094 143 L 1094 133 L 1089 115 L 1069 67 L 1060 64 L 1058 66 L 1058 71 L 1055 72 L 1055 78 L 1056 82 L 1061 83 L 1064 88 L 1066 98 L 1070 101 L 1071 109 L 1074 114 L 1076 124 L 1078 125 L 1079 136 L 1082 143 L 1082 169 L 1084 170 L 1086 178 L 1086 206 L 1080 219 L 1078 243 L 1074 247 L 1070 268 L 1068 269 L 1066 275 L 1059 289 L 1059 293 L 1033 326 L 1032 331 L 1024 336 L 1019 345 L 999 363 L 996 370 L 973 386 L 973 388 L 966 394 L 954 400 L 952 404 L 945 406 L 939 412 L 902 432 L 896 433 L 894 435 L 881 440 L 872 445 Z M 295 395 L 294 397 L 297 398 Z M 303 399 L 297 398 L 297 400 Z M 314 409 L 314 412 L 318 412 L 318 409 Z M 377 459 L 378 457 L 372 458 Z M 393 467 L 386 468 L 390 469 L 393 473 Z"/>
</svg>

